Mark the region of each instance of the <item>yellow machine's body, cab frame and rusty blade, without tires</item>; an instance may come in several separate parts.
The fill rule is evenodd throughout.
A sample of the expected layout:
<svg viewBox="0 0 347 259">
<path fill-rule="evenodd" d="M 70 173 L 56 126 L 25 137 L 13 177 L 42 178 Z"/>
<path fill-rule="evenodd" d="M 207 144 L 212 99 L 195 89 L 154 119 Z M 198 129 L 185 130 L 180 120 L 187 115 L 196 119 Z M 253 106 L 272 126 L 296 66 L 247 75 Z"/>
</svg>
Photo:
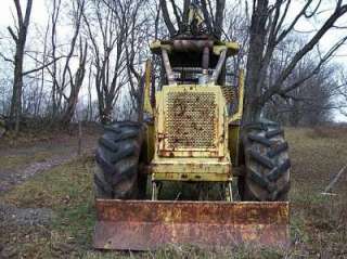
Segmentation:
<svg viewBox="0 0 347 259">
<path fill-rule="evenodd" d="M 176 46 L 175 46 L 176 44 Z M 100 249 L 147 250 L 162 245 L 230 247 L 244 243 L 287 247 L 290 244 L 287 202 L 233 202 L 232 181 L 239 163 L 240 121 L 243 114 L 244 72 L 239 74 L 237 94 L 228 94 L 216 75 L 214 80 L 178 83 L 170 67 L 175 48 L 204 48 L 214 59 L 237 53 L 234 42 L 156 41 L 152 51 L 162 54 L 167 83 L 151 102 L 151 63 L 146 63 L 144 112 L 149 115 L 144 135 L 145 169 L 152 182 L 152 199 L 97 199 L 93 245 Z M 185 52 L 183 52 L 183 55 Z M 175 59 L 175 53 L 171 55 Z M 215 60 L 216 61 L 216 60 Z M 215 62 L 216 64 L 216 62 Z M 151 91 L 152 89 L 152 91 Z M 236 104 L 233 113 L 228 103 Z M 226 200 L 158 200 L 156 183 L 165 181 L 226 183 Z M 227 195 L 226 195 L 227 196 Z"/>
</svg>

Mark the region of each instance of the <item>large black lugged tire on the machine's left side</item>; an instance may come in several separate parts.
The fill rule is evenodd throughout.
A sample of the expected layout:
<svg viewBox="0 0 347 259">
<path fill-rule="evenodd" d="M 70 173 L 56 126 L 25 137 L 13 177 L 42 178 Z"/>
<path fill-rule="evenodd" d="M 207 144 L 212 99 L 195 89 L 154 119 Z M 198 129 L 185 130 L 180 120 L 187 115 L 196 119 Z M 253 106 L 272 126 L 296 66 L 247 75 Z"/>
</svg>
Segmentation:
<svg viewBox="0 0 347 259">
<path fill-rule="evenodd" d="M 138 198 L 143 181 L 139 157 L 143 127 L 137 122 L 117 122 L 105 128 L 95 155 L 94 189 L 97 198 Z"/>
</svg>

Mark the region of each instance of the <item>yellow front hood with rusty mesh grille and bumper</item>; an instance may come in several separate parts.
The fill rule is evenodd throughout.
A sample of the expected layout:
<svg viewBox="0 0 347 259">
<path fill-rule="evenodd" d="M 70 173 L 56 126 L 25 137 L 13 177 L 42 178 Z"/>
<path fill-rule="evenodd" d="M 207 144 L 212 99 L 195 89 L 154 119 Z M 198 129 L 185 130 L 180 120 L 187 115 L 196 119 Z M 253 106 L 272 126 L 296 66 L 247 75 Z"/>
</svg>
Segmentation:
<svg viewBox="0 0 347 259">
<path fill-rule="evenodd" d="M 153 179 L 231 181 L 226 107 L 218 86 L 164 86 L 156 93 Z"/>
</svg>

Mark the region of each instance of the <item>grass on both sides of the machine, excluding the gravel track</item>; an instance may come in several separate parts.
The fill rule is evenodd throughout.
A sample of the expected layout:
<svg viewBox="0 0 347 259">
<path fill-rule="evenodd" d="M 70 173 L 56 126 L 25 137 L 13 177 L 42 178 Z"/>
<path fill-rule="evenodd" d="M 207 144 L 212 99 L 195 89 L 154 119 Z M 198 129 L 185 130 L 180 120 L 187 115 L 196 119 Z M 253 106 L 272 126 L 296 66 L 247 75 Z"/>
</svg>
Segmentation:
<svg viewBox="0 0 347 259">
<path fill-rule="evenodd" d="M 94 225 L 92 158 L 55 167 L 16 186 L 0 200 L 18 207 L 51 208 L 49 226 L 9 226 L 0 244 L 15 258 L 346 258 L 347 177 L 334 187 L 337 196 L 320 193 L 346 164 L 346 138 L 329 137 L 330 129 L 286 129 L 293 161 L 290 250 L 237 247 L 202 250 L 167 246 L 155 252 L 100 252 L 91 247 Z M 345 129 L 342 129 L 345 130 Z M 336 129 L 333 130 L 336 133 Z M 347 135 L 338 131 L 339 135 Z"/>
</svg>

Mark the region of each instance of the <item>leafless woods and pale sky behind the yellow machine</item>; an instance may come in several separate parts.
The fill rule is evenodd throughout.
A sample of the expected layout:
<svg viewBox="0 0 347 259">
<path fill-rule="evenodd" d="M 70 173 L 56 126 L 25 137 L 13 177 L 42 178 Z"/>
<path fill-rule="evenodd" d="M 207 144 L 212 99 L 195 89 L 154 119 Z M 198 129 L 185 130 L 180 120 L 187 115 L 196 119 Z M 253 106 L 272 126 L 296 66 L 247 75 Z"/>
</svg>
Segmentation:
<svg viewBox="0 0 347 259">
<path fill-rule="evenodd" d="M 201 7 L 206 34 L 241 44 L 227 72 L 246 68 L 245 124 L 269 117 L 317 125 L 333 120 L 336 111 L 346 114 L 346 67 L 335 61 L 347 40 L 343 0 L 36 4 L 13 0 L 14 23 L 0 28 L 0 115 L 15 132 L 26 120 L 53 127 L 139 119 L 149 46 L 187 31 L 194 7 Z M 47 13 L 44 24 L 35 21 L 35 7 Z M 155 62 L 153 70 L 159 74 Z M 153 79 L 153 89 L 158 83 Z"/>
</svg>

